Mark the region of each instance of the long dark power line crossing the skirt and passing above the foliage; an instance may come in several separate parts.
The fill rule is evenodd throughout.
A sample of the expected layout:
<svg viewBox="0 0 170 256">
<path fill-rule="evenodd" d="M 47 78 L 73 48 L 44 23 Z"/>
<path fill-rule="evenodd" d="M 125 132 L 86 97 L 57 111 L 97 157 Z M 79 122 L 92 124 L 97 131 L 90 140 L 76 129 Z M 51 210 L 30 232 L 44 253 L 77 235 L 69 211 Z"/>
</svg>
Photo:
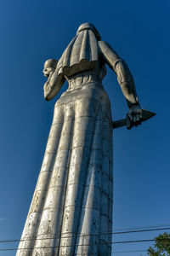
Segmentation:
<svg viewBox="0 0 170 256">
<path fill-rule="evenodd" d="M 84 235 L 77 234 L 75 236 L 110 236 L 110 235 L 122 235 L 122 234 L 141 233 L 141 232 L 150 232 L 150 231 L 161 231 L 161 230 L 170 230 L 170 227 L 161 228 L 161 229 L 130 230 L 130 231 L 107 232 L 107 233 L 84 234 Z M 17 242 L 17 241 L 47 240 L 47 239 L 57 239 L 57 238 L 71 238 L 71 237 L 73 237 L 73 236 L 71 235 L 71 236 L 54 236 L 54 237 L 44 237 L 44 238 L 30 238 L 30 239 L 0 240 L 0 243 L 3 243 L 3 242 Z"/>
</svg>

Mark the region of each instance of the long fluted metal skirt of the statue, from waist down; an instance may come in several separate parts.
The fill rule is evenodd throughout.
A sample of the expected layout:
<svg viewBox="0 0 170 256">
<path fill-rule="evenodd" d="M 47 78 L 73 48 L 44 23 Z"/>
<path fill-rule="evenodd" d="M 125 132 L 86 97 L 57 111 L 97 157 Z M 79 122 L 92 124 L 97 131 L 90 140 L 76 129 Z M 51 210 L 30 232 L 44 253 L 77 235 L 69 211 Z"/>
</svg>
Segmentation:
<svg viewBox="0 0 170 256">
<path fill-rule="evenodd" d="M 26 241 L 20 241 L 28 249 L 17 256 L 111 255 L 110 101 L 94 75 L 69 83 L 54 107 Z"/>
</svg>

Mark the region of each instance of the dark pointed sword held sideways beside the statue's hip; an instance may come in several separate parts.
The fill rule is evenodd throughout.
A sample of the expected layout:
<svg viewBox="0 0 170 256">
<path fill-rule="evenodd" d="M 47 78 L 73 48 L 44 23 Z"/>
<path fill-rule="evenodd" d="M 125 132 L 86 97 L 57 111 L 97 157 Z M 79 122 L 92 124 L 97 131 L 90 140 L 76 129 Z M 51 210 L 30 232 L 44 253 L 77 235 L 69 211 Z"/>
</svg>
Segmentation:
<svg viewBox="0 0 170 256">
<path fill-rule="evenodd" d="M 146 121 L 147 119 L 150 119 L 151 117 L 155 116 L 156 113 L 150 112 L 146 109 L 142 109 L 142 119 L 141 122 Z M 131 119 L 128 117 L 128 114 L 126 115 L 126 119 L 120 119 L 112 123 L 113 124 L 113 129 L 122 127 L 122 126 L 127 126 L 127 129 L 130 129 L 132 127 Z"/>
</svg>

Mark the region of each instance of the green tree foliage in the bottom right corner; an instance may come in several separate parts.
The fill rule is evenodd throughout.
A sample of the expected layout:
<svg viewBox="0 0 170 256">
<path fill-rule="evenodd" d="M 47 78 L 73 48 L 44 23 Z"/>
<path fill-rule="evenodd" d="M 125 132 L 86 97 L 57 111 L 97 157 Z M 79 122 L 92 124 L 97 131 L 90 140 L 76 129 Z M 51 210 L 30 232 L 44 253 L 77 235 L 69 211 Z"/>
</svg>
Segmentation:
<svg viewBox="0 0 170 256">
<path fill-rule="evenodd" d="M 170 256 L 170 234 L 164 233 L 156 237 L 154 247 L 148 248 L 150 256 Z"/>
</svg>

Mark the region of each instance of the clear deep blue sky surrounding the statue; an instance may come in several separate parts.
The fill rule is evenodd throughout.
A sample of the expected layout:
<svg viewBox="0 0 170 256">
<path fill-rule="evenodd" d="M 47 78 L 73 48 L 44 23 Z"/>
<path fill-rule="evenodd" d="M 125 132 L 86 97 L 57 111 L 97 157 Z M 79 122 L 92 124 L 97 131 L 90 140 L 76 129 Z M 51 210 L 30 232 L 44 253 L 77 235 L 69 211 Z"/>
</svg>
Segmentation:
<svg viewBox="0 0 170 256">
<path fill-rule="evenodd" d="M 114 131 L 114 230 L 170 225 L 169 9 L 169 0 L 1 1 L 0 240 L 20 238 L 59 98 L 43 99 L 43 62 L 59 59 L 77 27 L 87 21 L 127 61 L 142 108 L 157 113 L 139 128 Z M 113 119 L 122 119 L 127 105 L 109 68 L 104 85 Z M 157 234 L 116 235 L 113 241 Z M 115 245 L 113 251 L 149 245 Z M 114 253 L 141 254 L 146 255 Z"/>
</svg>

